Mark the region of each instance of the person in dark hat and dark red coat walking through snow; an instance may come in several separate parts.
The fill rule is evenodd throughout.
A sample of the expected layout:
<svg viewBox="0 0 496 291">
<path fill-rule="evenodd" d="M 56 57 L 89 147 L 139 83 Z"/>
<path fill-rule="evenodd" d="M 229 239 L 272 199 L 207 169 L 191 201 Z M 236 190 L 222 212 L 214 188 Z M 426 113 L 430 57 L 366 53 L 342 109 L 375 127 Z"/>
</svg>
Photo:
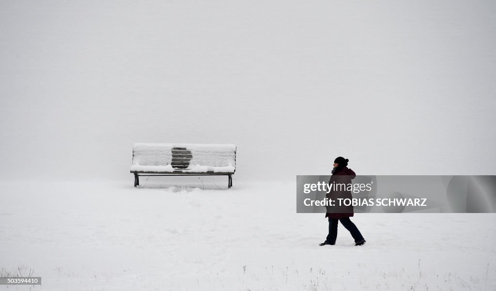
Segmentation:
<svg viewBox="0 0 496 291">
<path fill-rule="evenodd" d="M 351 184 L 351 180 L 354 179 L 357 175 L 355 174 L 355 172 L 353 172 L 353 170 L 347 167 L 348 162 L 349 160 L 343 157 L 337 157 L 336 160 L 334 160 L 334 169 L 331 172 L 332 175 L 329 180 L 329 185 L 341 183 L 344 183 L 346 185 Z M 354 214 L 353 205 L 340 206 L 337 202 L 338 200 L 336 200 L 337 198 L 352 198 L 351 191 L 347 191 L 346 188 L 347 187 L 345 187 L 344 189 L 333 188 L 329 193 L 325 195 L 327 199 L 332 199 L 332 201 L 334 201 L 334 205 L 326 207 L 327 213 L 325 214 L 325 217 L 328 217 L 329 219 L 329 234 L 327 235 L 325 241 L 320 243 L 319 245 L 336 244 L 338 222 L 341 222 L 341 224 L 351 233 L 351 235 L 355 239 L 355 245 L 363 245 L 365 243 L 365 239 L 362 236 L 362 233 L 360 233 L 357 226 L 350 220 L 350 217 L 352 217 Z"/>
</svg>

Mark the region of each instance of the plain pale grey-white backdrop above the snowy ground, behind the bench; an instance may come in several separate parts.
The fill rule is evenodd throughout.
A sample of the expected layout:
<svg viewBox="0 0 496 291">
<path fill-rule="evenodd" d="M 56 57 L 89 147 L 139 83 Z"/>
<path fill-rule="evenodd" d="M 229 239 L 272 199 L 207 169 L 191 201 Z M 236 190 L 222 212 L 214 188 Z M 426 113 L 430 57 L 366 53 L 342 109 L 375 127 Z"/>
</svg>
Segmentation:
<svg viewBox="0 0 496 291">
<path fill-rule="evenodd" d="M 237 179 L 496 174 L 495 1 L 0 1 L 0 179 L 129 179 L 134 142 Z"/>
</svg>

